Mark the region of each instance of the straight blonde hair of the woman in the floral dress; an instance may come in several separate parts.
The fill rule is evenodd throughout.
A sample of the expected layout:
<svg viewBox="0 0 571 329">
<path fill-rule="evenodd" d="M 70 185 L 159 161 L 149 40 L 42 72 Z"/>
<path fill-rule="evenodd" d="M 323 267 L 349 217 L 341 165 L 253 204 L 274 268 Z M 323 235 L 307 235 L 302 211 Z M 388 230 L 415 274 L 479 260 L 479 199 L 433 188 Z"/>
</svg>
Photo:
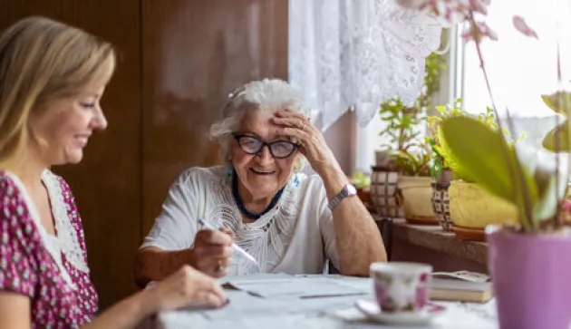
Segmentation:
<svg viewBox="0 0 571 329">
<path fill-rule="evenodd" d="M 115 61 L 113 46 L 81 29 L 28 17 L 0 35 L 0 165 L 29 138 L 28 122 L 73 97 Z"/>
</svg>

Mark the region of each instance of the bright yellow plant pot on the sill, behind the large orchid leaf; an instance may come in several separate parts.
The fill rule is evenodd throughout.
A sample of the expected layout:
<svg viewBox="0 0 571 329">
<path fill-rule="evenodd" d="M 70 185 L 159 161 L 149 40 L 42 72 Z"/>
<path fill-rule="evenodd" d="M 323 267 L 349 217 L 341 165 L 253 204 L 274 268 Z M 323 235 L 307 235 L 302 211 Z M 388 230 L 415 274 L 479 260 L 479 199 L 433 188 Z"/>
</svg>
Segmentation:
<svg viewBox="0 0 571 329">
<path fill-rule="evenodd" d="M 488 224 L 518 222 L 516 206 L 475 183 L 452 180 L 448 189 L 450 218 L 456 227 L 483 229 Z"/>
</svg>

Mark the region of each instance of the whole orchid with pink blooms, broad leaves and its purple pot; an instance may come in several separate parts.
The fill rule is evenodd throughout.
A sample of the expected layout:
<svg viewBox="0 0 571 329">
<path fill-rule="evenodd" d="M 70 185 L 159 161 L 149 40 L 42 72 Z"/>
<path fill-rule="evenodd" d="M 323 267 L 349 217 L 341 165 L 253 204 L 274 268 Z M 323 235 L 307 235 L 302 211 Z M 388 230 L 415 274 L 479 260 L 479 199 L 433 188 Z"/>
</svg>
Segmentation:
<svg viewBox="0 0 571 329">
<path fill-rule="evenodd" d="M 448 0 L 399 0 L 409 8 L 429 10 L 442 18 L 452 17 L 468 24 L 463 33 L 473 40 L 479 63 L 493 102 L 489 74 L 481 53 L 480 41 L 497 35 L 481 19 L 488 0 L 457 2 Z M 537 37 L 522 17 L 512 22 L 522 34 Z M 557 67 L 561 67 L 557 48 Z M 559 82 L 561 73 L 558 70 Z M 560 84 L 561 85 L 561 84 Z M 571 111 L 569 92 L 551 95 L 557 112 Z M 508 112 L 508 111 L 507 111 Z M 513 123 L 508 115 L 508 127 Z M 566 121 L 562 131 L 570 131 Z M 571 323 L 571 232 L 564 226 L 559 209 L 567 189 L 568 153 L 559 153 L 562 145 L 571 145 L 567 133 L 556 133 L 555 152 L 510 147 L 502 133 L 489 129 L 483 122 L 467 117 L 442 122 L 442 132 L 451 153 L 479 185 L 513 204 L 518 212 L 515 225 L 487 227 L 489 270 L 496 292 L 501 329 L 567 329 Z M 566 150 L 568 151 L 568 150 Z"/>
</svg>

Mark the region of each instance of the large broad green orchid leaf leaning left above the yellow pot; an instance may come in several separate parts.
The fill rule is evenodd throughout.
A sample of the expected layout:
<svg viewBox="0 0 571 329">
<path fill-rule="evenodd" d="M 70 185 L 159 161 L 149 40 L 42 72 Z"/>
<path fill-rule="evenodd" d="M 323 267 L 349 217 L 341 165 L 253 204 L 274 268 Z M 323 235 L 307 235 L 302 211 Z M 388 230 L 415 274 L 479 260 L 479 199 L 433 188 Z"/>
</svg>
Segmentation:
<svg viewBox="0 0 571 329">
<path fill-rule="evenodd" d="M 501 135 L 467 117 L 450 118 L 441 128 L 454 158 L 469 176 L 499 198 L 514 202 L 510 181 L 514 167 L 504 160 Z"/>
</svg>

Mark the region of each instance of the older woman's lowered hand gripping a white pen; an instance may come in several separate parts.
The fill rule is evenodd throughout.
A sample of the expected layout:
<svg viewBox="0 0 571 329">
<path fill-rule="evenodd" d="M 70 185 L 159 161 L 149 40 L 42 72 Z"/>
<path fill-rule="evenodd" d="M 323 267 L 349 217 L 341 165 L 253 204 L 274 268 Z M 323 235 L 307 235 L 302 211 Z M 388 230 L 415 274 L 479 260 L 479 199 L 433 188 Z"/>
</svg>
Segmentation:
<svg viewBox="0 0 571 329">
<path fill-rule="evenodd" d="M 198 231 L 194 247 L 190 249 L 190 265 L 208 276 L 226 276 L 232 256 L 232 238 L 232 231 L 226 227 Z"/>
</svg>

